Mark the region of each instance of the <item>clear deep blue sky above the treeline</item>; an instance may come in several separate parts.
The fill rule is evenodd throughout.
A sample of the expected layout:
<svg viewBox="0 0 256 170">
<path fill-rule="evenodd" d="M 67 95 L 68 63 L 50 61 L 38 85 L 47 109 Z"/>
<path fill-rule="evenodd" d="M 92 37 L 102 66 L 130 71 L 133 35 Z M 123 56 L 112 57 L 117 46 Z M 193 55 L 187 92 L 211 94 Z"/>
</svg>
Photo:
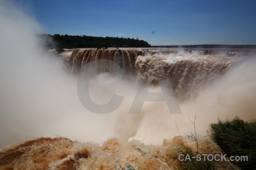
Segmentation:
<svg viewBox="0 0 256 170">
<path fill-rule="evenodd" d="M 256 44 L 255 0 L 19 3 L 43 25 L 43 33 L 138 37 L 151 45 Z"/>
</svg>

